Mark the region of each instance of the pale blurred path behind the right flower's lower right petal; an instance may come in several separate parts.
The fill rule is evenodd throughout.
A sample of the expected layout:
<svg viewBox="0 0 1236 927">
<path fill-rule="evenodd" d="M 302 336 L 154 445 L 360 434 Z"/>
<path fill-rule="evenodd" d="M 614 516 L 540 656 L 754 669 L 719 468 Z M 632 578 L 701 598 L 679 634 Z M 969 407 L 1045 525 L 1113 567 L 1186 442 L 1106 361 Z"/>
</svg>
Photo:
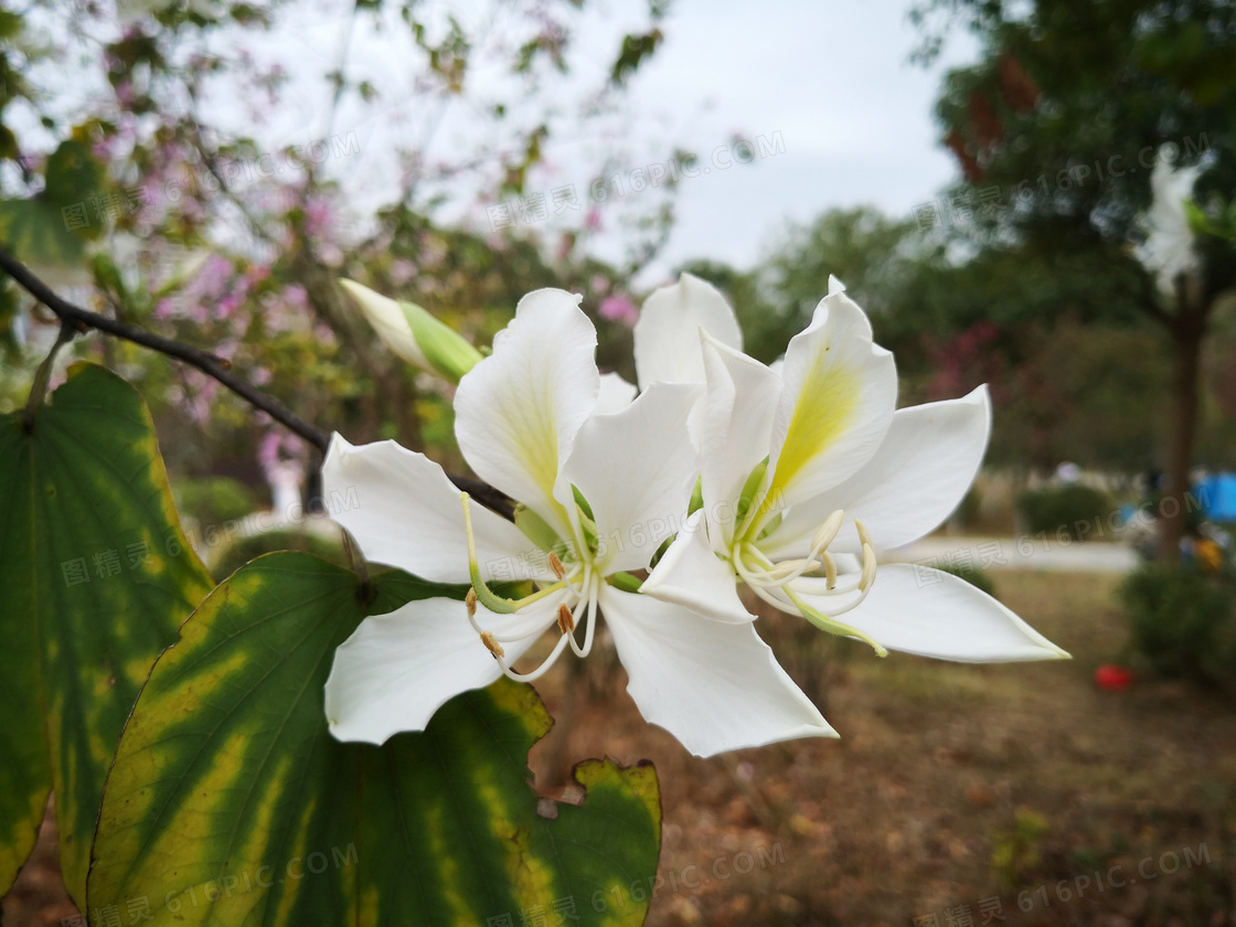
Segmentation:
<svg viewBox="0 0 1236 927">
<path fill-rule="evenodd" d="M 981 570 L 1049 570 L 1053 572 L 1126 574 L 1137 554 L 1125 544 L 1072 541 L 1054 538 L 950 538 L 932 535 L 886 551 L 884 562 L 923 566 L 975 566 Z"/>
</svg>

